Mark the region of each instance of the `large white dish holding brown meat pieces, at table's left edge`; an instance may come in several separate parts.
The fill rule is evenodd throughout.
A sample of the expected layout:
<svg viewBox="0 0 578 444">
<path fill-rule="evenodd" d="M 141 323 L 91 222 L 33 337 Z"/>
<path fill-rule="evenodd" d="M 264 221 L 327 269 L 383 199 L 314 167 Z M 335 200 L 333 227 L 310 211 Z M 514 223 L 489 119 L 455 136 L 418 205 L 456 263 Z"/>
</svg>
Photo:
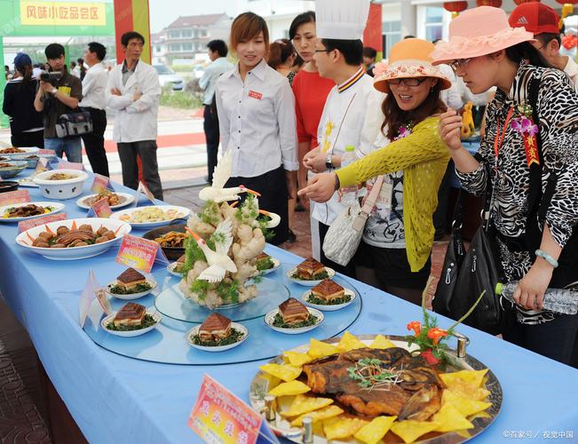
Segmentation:
<svg viewBox="0 0 578 444">
<path fill-rule="evenodd" d="M 101 226 L 107 227 L 109 230 L 116 234 L 115 239 L 111 239 L 108 242 L 95 243 L 93 245 L 88 245 L 86 247 L 74 247 L 69 249 L 51 249 L 44 247 L 33 247 L 32 242 L 38 234 L 46 231 L 50 228 L 54 233 L 59 226 L 67 226 L 70 228 L 72 224 L 75 223 L 76 226 L 81 226 L 83 224 L 89 224 L 92 226 L 93 230 L 98 230 Z M 57 220 L 56 222 L 50 222 L 48 224 L 43 224 L 41 226 L 35 226 L 29 230 L 20 233 L 16 236 L 16 243 L 21 247 L 27 248 L 36 254 L 44 256 L 47 259 L 53 260 L 75 260 L 92 258 L 100 253 L 104 253 L 109 248 L 111 248 L 115 243 L 121 242 L 124 234 L 131 233 L 131 226 L 126 222 L 121 220 L 112 220 L 110 218 L 77 218 L 68 220 Z"/>
</svg>

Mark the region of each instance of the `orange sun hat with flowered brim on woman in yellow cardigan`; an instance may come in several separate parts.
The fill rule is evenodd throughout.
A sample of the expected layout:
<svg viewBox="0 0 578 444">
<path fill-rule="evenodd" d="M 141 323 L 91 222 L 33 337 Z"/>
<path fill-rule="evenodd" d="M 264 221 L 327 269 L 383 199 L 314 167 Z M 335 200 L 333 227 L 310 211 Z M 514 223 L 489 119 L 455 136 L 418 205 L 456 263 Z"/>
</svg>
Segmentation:
<svg viewBox="0 0 578 444">
<path fill-rule="evenodd" d="M 408 38 L 392 46 L 389 64 L 380 62 L 374 67 L 373 86 L 377 91 L 390 92 L 388 80 L 408 77 L 435 77 L 442 90 L 452 83 L 442 74 L 439 67 L 432 65 L 430 53 L 435 47 L 419 38 Z"/>
</svg>

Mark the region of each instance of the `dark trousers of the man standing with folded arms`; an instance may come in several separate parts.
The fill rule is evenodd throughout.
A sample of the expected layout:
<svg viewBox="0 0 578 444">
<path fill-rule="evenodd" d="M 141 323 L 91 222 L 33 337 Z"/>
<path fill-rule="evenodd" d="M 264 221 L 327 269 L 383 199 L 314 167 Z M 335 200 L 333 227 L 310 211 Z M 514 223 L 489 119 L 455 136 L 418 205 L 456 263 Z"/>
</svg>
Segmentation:
<svg viewBox="0 0 578 444">
<path fill-rule="evenodd" d="M 139 167 L 137 155 L 142 163 L 146 186 L 159 200 L 162 200 L 162 184 L 159 164 L 156 162 L 156 140 L 118 143 L 118 156 L 123 165 L 123 185 L 136 190 L 139 187 Z"/>
</svg>

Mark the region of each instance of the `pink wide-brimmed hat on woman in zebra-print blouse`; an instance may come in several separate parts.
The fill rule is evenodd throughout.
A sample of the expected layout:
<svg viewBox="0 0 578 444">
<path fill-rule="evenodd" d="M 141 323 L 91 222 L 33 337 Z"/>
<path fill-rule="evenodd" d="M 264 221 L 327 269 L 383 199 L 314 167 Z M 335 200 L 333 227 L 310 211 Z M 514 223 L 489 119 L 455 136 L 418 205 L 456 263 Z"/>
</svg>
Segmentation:
<svg viewBox="0 0 578 444">
<path fill-rule="evenodd" d="M 479 6 L 450 22 L 449 41 L 436 44 L 432 64 L 480 57 L 531 41 L 534 35 L 525 28 L 511 28 L 503 9 Z"/>
</svg>

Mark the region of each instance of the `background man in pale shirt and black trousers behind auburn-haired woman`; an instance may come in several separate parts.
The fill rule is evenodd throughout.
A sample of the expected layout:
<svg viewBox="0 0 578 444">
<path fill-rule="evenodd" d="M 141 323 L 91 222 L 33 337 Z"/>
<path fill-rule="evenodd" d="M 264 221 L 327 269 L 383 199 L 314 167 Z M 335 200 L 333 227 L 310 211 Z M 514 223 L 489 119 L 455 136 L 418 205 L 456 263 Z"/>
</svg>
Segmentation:
<svg viewBox="0 0 578 444">
<path fill-rule="evenodd" d="M 218 112 L 215 100 L 215 86 L 218 77 L 233 68 L 233 65 L 226 59 L 229 50 L 222 40 L 211 40 L 207 44 L 210 64 L 205 68 L 199 87 L 204 91 L 202 96 L 203 123 L 202 129 L 205 132 L 207 141 L 207 182 L 213 183 L 213 171 L 217 166 L 218 159 Z"/>
</svg>

